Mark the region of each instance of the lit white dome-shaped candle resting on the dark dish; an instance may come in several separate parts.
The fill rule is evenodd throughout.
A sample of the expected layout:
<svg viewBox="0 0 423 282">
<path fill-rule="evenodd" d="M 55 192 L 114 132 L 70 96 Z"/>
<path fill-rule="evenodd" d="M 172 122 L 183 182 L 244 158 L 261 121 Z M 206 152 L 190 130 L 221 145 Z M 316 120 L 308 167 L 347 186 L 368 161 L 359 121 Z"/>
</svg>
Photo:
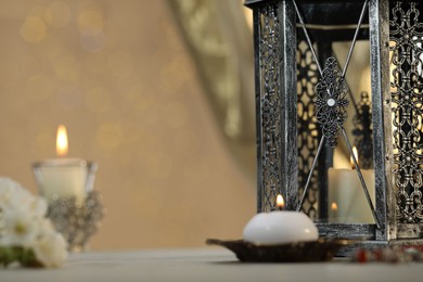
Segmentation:
<svg viewBox="0 0 423 282">
<path fill-rule="evenodd" d="M 281 210 L 282 195 L 277 196 L 277 211 L 255 215 L 244 228 L 244 241 L 260 245 L 315 241 L 319 233 L 304 213 Z"/>
</svg>

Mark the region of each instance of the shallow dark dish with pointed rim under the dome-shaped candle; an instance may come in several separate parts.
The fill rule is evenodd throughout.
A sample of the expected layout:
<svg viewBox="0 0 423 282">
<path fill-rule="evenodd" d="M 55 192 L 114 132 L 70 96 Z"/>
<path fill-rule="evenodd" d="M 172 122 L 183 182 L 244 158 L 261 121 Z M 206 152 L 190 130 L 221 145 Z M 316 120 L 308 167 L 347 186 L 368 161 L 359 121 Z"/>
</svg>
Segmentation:
<svg viewBox="0 0 423 282">
<path fill-rule="evenodd" d="M 348 245 L 348 240 L 319 239 L 280 245 L 256 245 L 243 240 L 208 239 L 206 244 L 232 251 L 244 262 L 311 262 L 331 260 L 336 252 Z"/>
</svg>

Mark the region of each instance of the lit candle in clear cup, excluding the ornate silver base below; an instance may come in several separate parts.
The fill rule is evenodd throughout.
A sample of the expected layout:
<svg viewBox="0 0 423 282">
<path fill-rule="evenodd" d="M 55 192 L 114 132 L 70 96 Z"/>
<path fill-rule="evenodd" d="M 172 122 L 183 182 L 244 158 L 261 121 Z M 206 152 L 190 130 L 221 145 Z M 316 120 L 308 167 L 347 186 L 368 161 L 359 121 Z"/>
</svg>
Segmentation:
<svg viewBox="0 0 423 282">
<path fill-rule="evenodd" d="M 68 143 L 66 128 L 60 125 L 56 136 L 57 158 L 44 159 L 34 165 L 34 172 L 40 192 L 48 202 L 57 198 L 75 197 L 78 205 L 84 204 L 97 165 L 80 158 L 67 158 Z"/>
</svg>

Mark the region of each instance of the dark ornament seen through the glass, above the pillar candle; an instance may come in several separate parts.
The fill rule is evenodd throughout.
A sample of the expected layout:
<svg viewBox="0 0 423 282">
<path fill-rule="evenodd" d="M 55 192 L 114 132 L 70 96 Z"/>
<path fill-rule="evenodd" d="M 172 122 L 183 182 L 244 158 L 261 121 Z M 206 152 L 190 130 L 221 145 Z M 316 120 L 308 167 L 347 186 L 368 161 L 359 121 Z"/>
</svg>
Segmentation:
<svg viewBox="0 0 423 282">
<path fill-rule="evenodd" d="M 372 168 L 373 165 L 373 124 L 372 104 L 368 92 L 361 92 L 360 101 L 357 105 L 357 114 L 354 119 L 352 134 L 356 137 L 354 144 L 360 156 L 360 167 Z"/>
</svg>

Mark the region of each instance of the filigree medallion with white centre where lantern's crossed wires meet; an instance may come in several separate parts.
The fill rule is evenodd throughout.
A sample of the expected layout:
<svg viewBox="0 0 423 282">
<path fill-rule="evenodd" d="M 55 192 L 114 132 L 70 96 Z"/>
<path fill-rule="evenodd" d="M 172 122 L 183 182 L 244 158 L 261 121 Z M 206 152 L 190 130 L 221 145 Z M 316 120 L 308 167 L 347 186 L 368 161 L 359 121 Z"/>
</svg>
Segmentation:
<svg viewBox="0 0 423 282">
<path fill-rule="evenodd" d="M 316 92 L 317 120 L 322 127 L 328 145 L 334 148 L 337 144 L 341 128 L 347 120 L 346 107 L 349 103 L 348 87 L 334 57 L 326 60 L 322 77 L 316 86 Z"/>
</svg>

